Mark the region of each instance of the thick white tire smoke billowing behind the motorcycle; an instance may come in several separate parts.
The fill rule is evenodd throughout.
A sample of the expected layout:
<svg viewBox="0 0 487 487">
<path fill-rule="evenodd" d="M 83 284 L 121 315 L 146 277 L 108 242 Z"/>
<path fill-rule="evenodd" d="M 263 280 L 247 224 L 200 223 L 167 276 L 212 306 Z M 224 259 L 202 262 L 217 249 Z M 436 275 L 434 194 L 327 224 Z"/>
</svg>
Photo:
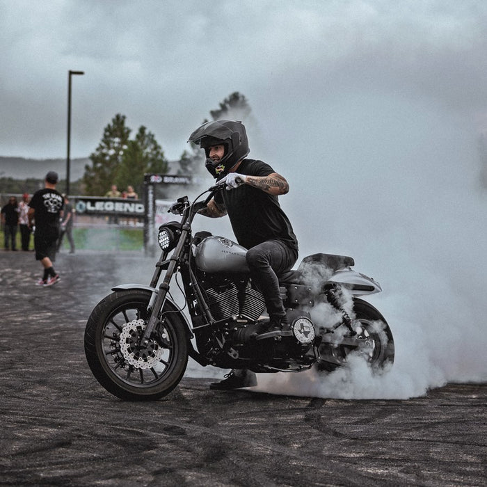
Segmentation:
<svg viewBox="0 0 487 487">
<path fill-rule="evenodd" d="M 285 148 L 271 164 L 291 186 L 280 201 L 300 257 L 351 255 L 357 271 L 383 286 L 365 299 L 390 324 L 394 366 L 373 376 L 353 359 L 328 375 L 262 374 L 257 390 L 400 399 L 447 382 L 486 381 L 487 195 L 472 127 L 426 102 L 377 97 L 371 113 L 362 111 L 369 103 L 342 101 L 322 100 L 287 129 L 269 120 L 272 148 L 276 138 Z M 401 116 L 413 109 L 414 118 Z M 337 120 L 346 120 L 342 133 Z"/>
</svg>

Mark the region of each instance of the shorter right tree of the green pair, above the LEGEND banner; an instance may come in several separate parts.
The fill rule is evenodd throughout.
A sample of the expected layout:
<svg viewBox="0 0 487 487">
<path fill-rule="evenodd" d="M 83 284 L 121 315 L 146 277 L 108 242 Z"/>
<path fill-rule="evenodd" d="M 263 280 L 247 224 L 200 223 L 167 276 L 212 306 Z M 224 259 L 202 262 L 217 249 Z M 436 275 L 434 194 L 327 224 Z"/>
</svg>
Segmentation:
<svg viewBox="0 0 487 487">
<path fill-rule="evenodd" d="M 141 195 L 143 189 L 144 173 L 167 173 L 168 161 L 164 157 L 161 146 L 157 143 L 154 134 L 147 131 L 143 125 L 133 141 L 128 141 L 127 149 L 123 152 L 122 163 L 115 177 L 118 189 L 134 186 L 135 191 Z"/>
</svg>

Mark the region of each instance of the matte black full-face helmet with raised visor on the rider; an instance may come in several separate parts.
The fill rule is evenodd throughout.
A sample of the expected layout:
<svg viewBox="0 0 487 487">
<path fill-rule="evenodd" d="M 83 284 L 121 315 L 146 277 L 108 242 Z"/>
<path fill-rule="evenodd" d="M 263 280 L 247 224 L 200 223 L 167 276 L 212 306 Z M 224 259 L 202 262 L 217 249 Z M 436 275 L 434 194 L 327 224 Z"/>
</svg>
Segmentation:
<svg viewBox="0 0 487 487">
<path fill-rule="evenodd" d="M 205 166 L 215 179 L 227 174 L 237 162 L 244 159 L 250 152 L 244 124 L 232 120 L 206 122 L 193 131 L 188 142 L 198 144 L 205 150 L 207 157 Z M 223 157 L 219 161 L 214 162 L 209 159 L 209 148 L 212 145 L 223 145 L 225 147 Z"/>
</svg>

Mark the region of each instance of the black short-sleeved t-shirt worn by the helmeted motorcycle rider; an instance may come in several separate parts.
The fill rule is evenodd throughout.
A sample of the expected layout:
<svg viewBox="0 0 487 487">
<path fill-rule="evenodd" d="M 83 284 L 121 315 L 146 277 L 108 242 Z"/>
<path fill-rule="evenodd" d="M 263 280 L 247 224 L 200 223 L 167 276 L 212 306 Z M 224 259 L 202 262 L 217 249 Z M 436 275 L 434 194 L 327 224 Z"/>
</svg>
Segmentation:
<svg viewBox="0 0 487 487">
<path fill-rule="evenodd" d="M 249 176 L 276 173 L 269 164 L 255 159 L 241 161 L 237 172 Z M 296 235 L 276 195 L 242 184 L 236 189 L 216 193 L 215 202 L 227 209 L 233 232 L 241 246 L 252 248 L 264 241 L 276 239 L 298 250 Z"/>
</svg>

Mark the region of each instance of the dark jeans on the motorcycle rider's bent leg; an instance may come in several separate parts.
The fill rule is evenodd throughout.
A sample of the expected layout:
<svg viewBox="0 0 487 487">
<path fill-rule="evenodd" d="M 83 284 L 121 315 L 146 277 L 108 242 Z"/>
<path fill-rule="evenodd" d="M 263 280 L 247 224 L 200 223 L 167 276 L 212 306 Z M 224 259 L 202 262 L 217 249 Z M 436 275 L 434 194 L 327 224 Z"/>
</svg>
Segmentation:
<svg viewBox="0 0 487 487">
<path fill-rule="evenodd" d="M 294 266 L 298 259 L 298 251 L 279 240 L 267 240 L 250 248 L 246 259 L 250 277 L 264 296 L 269 316 L 285 316 L 278 274 L 289 271 Z"/>
</svg>

